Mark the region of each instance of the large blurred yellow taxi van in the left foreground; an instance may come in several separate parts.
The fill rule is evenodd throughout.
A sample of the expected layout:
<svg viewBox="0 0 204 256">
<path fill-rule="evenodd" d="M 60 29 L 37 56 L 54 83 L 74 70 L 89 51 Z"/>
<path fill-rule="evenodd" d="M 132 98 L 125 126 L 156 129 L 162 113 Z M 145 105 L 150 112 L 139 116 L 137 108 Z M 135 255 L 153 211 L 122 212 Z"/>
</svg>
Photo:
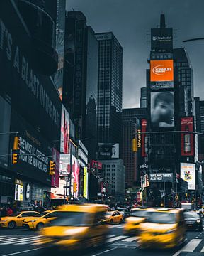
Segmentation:
<svg viewBox="0 0 204 256">
<path fill-rule="evenodd" d="M 62 206 L 57 218 L 40 232 L 43 239 L 37 245 L 45 246 L 45 250 L 84 250 L 104 245 L 108 234 L 105 213 L 106 206 L 97 204 Z"/>
</svg>

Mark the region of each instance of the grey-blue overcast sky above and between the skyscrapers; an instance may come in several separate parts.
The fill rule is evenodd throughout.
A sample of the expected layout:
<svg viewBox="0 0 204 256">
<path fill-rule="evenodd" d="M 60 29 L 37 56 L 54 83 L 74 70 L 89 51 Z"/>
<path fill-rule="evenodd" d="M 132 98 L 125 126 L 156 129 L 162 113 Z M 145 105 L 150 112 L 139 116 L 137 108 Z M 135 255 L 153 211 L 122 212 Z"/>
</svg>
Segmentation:
<svg viewBox="0 0 204 256">
<path fill-rule="evenodd" d="M 174 28 L 174 48 L 185 47 L 194 71 L 194 95 L 204 100 L 204 0 L 67 0 L 67 11 L 82 11 L 96 33 L 113 31 L 123 46 L 123 107 L 140 107 L 140 87 L 150 50 L 150 28 L 160 14 Z"/>
</svg>

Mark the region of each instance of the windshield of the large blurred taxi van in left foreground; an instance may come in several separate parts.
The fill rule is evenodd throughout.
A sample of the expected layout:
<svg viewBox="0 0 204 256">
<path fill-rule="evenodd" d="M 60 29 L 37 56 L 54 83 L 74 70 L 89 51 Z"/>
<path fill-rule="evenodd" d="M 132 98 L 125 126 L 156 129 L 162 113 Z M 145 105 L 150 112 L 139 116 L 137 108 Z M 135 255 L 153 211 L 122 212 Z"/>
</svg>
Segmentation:
<svg viewBox="0 0 204 256">
<path fill-rule="evenodd" d="M 89 225 L 89 213 L 83 212 L 59 212 L 57 218 L 52 220 L 50 225 L 56 226 L 70 226 L 70 227 L 83 227 Z"/>
</svg>

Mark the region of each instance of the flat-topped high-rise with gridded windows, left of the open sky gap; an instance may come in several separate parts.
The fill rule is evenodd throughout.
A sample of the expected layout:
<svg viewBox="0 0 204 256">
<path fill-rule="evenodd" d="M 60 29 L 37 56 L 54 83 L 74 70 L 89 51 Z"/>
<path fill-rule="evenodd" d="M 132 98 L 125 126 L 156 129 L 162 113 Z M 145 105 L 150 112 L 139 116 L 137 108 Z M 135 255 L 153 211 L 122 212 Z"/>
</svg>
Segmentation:
<svg viewBox="0 0 204 256">
<path fill-rule="evenodd" d="M 110 33 L 98 43 L 98 143 L 120 143 L 122 135 L 123 48 Z"/>
</svg>

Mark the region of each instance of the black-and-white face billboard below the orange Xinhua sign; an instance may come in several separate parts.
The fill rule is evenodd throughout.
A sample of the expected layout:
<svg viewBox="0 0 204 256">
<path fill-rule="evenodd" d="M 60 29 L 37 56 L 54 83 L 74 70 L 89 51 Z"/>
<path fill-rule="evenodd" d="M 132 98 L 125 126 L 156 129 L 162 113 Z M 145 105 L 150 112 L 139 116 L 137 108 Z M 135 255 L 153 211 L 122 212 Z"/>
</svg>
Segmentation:
<svg viewBox="0 0 204 256">
<path fill-rule="evenodd" d="M 174 127 L 174 92 L 151 92 L 152 127 Z"/>
</svg>

